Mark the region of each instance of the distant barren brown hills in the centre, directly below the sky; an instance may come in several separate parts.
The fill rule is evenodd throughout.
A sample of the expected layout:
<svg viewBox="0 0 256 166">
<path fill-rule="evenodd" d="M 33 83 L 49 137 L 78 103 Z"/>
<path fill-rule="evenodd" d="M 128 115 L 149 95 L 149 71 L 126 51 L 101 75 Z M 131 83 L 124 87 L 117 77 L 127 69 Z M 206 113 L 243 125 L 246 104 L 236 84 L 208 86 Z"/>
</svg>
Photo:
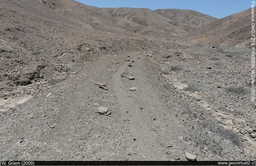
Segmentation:
<svg viewBox="0 0 256 166">
<path fill-rule="evenodd" d="M 44 1 L 59 14 L 73 21 L 87 23 L 96 30 L 143 37 L 179 38 L 217 20 L 195 11 L 180 9 L 152 11 L 145 8 L 98 8 L 72 0 Z"/>
</svg>

